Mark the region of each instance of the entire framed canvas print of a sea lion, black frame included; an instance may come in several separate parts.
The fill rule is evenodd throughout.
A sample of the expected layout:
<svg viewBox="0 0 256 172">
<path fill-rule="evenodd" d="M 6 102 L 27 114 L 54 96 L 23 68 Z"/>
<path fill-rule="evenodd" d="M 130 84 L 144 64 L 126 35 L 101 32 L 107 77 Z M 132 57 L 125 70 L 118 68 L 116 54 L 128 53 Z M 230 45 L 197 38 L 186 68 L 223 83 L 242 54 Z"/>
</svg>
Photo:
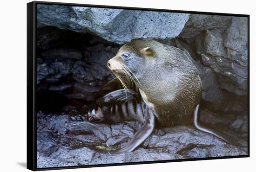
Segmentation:
<svg viewBox="0 0 256 172">
<path fill-rule="evenodd" d="M 249 15 L 27 4 L 27 168 L 249 157 Z"/>
</svg>

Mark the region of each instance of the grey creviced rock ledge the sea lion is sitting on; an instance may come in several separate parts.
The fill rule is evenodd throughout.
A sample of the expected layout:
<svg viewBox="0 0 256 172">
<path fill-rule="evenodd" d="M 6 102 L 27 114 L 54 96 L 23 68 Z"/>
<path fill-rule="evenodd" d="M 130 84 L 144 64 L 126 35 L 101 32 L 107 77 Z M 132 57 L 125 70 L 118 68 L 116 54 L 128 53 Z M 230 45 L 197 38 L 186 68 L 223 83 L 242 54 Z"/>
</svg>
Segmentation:
<svg viewBox="0 0 256 172">
<path fill-rule="evenodd" d="M 237 120 L 234 123 L 234 127 L 242 125 Z M 247 154 L 246 134 L 231 130 L 225 132 L 235 138 L 237 146 L 229 145 L 194 127 L 177 126 L 155 130 L 131 153 L 109 155 L 108 151 L 126 145 L 141 127 L 139 122 L 107 125 L 89 123 L 83 115 L 38 112 L 37 126 L 39 168 Z"/>
</svg>

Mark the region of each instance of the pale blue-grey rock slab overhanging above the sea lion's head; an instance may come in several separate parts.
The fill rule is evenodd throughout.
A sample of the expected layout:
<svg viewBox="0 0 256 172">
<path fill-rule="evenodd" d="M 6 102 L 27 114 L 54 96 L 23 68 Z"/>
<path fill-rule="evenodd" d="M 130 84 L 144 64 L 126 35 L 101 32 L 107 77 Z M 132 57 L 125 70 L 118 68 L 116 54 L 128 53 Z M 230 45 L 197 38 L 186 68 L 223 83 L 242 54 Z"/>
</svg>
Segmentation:
<svg viewBox="0 0 256 172">
<path fill-rule="evenodd" d="M 124 44 L 135 38 L 175 38 L 182 31 L 189 14 L 38 5 L 37 19 L 45 25 L 90 32 Z"/>
</svg>

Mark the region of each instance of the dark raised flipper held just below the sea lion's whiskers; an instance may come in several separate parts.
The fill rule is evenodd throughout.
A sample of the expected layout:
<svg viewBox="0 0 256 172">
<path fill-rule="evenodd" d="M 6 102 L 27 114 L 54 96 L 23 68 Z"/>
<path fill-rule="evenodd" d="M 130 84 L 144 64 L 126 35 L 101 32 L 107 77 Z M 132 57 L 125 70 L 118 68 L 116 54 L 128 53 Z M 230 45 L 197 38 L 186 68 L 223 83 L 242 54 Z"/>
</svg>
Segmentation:
<svg viewBox="0 0 256 172">
<path fill-rule="evenodd" d="M 118 89 L 102 96 L 97 101 L 103 106 L 113 106 L 128 102 L 136 95 L 137 93 L 132 89 Z"/>
</svg>

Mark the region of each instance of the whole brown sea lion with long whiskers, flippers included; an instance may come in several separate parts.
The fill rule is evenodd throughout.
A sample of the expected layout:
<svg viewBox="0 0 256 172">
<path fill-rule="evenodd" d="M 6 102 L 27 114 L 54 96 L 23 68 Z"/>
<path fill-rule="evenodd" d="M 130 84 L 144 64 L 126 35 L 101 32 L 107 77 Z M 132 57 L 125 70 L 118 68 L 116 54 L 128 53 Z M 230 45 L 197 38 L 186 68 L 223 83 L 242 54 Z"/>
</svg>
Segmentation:
<svg viewBox="0 0 256 172">
<path fill-rule="evenodd" d="M 107 65 L 117 78 L 101 89 L 96 96 L 97 108 L 88 115 L 94 120 L 118 122 L 132 114 L 130 119 L 140 118 L 136 120 L 144 123 L 127 146 L 111 154 L 133 151 L 152 133 L 156 122 L 172 127 L 189 122 L 193 114 L 197 129 L 229 142 L 223 133 L 199 124 L 200 74 L 180 49 L 135 39 L 123 45 Z M 140 110 L 135 112 L 135 106 Z"/>
</svg>

